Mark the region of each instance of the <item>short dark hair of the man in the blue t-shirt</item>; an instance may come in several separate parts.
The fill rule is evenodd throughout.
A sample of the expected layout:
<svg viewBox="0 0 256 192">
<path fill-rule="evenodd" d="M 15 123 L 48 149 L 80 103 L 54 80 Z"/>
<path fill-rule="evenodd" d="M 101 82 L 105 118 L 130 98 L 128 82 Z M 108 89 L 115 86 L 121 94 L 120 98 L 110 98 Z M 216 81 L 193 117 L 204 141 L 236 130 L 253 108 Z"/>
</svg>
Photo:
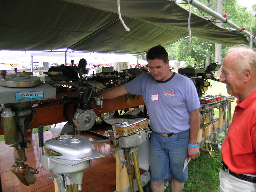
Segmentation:
<svg viewBox="0 0 256 192">
<path fill-rule="evenodd" d="M 162 45 L 157 45 L 148 50 L 146 54 L 146 59 L 147 61 L 154 60 L 154 59 L 161 59 L 166 64 L 168 60 L 168 53 L 164 49 L 164 47 L 162 47 Z"/>
</svg>

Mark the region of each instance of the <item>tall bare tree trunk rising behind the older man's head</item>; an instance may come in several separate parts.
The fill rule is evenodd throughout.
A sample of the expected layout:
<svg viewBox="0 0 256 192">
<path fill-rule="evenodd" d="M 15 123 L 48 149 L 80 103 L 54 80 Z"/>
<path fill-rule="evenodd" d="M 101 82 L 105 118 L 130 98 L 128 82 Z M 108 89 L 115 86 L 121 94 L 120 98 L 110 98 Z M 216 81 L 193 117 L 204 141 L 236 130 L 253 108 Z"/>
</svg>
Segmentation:
<svg viewBox="0 0 256 192">
<path fill-rule="evenodd" d="M 216 1 L 216 12 L 222 15 L 222 0 L 217 0 Z M 222 27 L 222 23 L 216 23 L 217 26 Z M 215 57 L 214 57 L 214 62 L 215 63 L 220 63 L 222 64 L 222 58 L 221 58 L 221 49 L 222 45 L 215 43 Z M 214 76 L 215 77 L 220 77 L 221 74 L 221 69 L 219 71 L 216 71 Z"/>
</svg>

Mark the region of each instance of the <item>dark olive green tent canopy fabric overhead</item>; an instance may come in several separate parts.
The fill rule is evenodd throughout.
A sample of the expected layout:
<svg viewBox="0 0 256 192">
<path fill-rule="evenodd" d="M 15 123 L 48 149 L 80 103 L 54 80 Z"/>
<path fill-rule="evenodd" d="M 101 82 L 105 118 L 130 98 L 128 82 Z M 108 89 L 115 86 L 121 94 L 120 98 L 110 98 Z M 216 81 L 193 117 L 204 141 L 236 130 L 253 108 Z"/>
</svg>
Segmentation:
<svg viewBox="0 0 256 192">
<path fill-rule="evenodd" d="M 120 11 L 129 32 L 117 0 L 0 1 L 0 49 L 138 54 L 188 36 L 188 11 L 171 1 L 120 0 Z M 191 33 L 228 46 L 248 44 L 244 35 L 195 14 Z"/>
</svg>

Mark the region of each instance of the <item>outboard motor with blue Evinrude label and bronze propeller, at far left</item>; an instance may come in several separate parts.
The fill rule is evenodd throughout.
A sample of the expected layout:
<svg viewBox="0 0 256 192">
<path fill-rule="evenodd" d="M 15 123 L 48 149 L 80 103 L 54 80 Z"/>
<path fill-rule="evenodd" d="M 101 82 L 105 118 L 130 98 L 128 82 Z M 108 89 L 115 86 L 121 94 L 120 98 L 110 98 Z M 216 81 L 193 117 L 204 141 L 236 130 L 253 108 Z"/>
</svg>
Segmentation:
<svg viewBox="0 0 256 192">
<path fill-rule="evenodd" d="M 24 137 L 24 132 L 33 122 L 32 103 L 38 100 L 55 98 L 56 89 L 42 83 L 39 77 L 15 73 L 6 74 L 1 70 L 0 76 L 0 113 L 6 145 L 14 147 L 18 156 L 14 159 L 11 171 L 24 185 L 35 183 L 34 174 L 39 171 L 29 167 L 25 162 L 25 148 L 31 143 Z"/>
</svg>

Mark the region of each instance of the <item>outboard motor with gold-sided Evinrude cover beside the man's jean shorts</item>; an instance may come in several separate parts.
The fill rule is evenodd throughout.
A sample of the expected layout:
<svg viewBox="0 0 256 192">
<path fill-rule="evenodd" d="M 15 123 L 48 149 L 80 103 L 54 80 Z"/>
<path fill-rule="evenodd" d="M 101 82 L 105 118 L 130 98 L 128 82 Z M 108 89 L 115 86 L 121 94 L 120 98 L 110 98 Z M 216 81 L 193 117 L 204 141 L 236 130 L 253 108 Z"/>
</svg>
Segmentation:
<svg viewBox="0 0 256 192">
<path fill-rule="evenodd" d="M 134 163 L 134 172 L 137 183 L 137 189 L 142 192 L 142 184 L 140 180 L 140 170 L 138 162 L 138 148 L 139 145 L 147 140 L 148 135 L 148 120 L 147 118 L 135 118 L 132 120 L 119 120 L 115 124 L 112 124 L 113 130 L 115 130 L 114 137 L 108 137 L 109 145 L 114 148 L 117 153 L 121 166 L 124 168 L 126 164 L 130 189 L 135 192 L 135 186 L 132 178 L 132 157 Z M 112 131 L 106 131 L 112 132 Z M 123 155 L 124 149 L 124 155 Z M 131 157 L 132 155 L 132 157 Z"/>
</svg>

